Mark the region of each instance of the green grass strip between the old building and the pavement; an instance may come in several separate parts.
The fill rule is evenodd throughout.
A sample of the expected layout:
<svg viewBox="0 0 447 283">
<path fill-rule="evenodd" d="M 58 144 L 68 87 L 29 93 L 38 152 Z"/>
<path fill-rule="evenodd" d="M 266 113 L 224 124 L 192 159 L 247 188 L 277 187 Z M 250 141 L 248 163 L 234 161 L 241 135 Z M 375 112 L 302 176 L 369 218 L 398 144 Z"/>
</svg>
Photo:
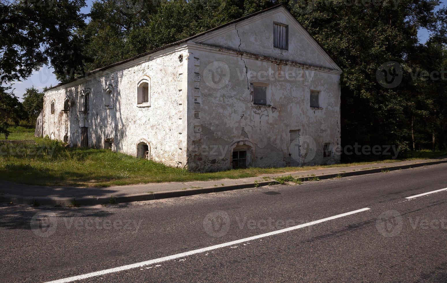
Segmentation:
<svg viewBox="0 0 447 283">
<path fill-rule="evenodd" d="M 213 173 L 194 173 L 186 169 L 173 168 L 154 161 L 143 160 L 104 149 L 65 148 L 61 142 L 34 138 L 34 129 L 17 127 L 12 130 L 10 139 L 33 139 L 37 144 L 26 145 L 25 149 L 27 150 L 24 150 L 24 148 L 20 150 L 14 149 L 13 145 L 0 145 L 0 153 L 2 153 L 0 154 L 0 180 L 29 185 L 92 187 L 152 182 L 210 181 L 371 163 L 356 162 L 305 167 L 248 168 Z M 43 150 L 41 150 L 42 148 Z M 21 155 L 4 154 L 11 152 L 14 154 L 18 152 Z M 38 152 L 39 154 L 36 155 L 33 152 Z M 412 152 L 412 156 L 402 159 L 376 162 L 392 163 L 445 155 L 447 155 L 447 152 Z M 269 178 L 264 177 L 264 179 L 268 180 Z"/>
</svg>

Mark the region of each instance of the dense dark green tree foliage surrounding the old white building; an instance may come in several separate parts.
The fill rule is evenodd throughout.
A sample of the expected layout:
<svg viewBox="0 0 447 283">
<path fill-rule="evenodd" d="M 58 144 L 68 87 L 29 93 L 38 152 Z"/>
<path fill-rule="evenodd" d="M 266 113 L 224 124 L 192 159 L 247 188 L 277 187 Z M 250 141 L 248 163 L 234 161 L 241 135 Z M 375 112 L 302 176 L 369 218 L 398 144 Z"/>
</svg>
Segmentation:
<svg viewBox="0 0 447 283">
<path fill-rule="evenodd" d="M 99 0 L 86 25 L 79 13 L 84 1 L 56 2 L 59 9 L 52 12 L 24 7 L 22 1 L 14 3 L 23 11 L 6 8 L 8 22 L 17 21 L 18 30 L 26 32 L 3 23 L 11 34 L 2 32 L 5 46 L 20 46 L 17 51 L 4 49 L 13 59 L 9 66 L 0 61 L 9 70 L 5 76 L 13 77 L 17 68 L 15 78 L 24 77 L 38 62 L 51 59 L 60 78 L 71 78 L 76 73 L 67 75 L 66 70 L 91 71 L 285 4 L 343 70 L 343 145 L 447 150 L 447 76 L 433 76 L 447 70 L 447 10 L 436 10 L 439 0 Z M 39 23 L 44 14 L 55 20 Z M 25 17 L 33 24 L 24 23 Z M 60 25 L 62 17 L 67 20 Z M 421 28 L 431 32 L 426 43 L 417 38 Z M 30 40 L 34 36 L 36 42 Z M 45 52 L 36 48 L 42 44 Z M 402 81 L 385 88 L 376 71 L 390 61 L 401 66 Z"/>
</svg>

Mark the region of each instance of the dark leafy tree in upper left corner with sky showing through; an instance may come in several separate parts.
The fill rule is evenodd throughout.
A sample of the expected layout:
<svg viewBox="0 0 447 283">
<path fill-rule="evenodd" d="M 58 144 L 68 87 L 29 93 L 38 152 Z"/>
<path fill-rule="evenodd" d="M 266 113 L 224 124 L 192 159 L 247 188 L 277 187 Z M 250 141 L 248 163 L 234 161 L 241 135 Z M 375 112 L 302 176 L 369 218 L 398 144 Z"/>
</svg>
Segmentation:
<svg viewBox="0 0 447 283">
<path fill-rule="evenodd" d="M 0 84 L 52 64 L 60 80 L 82 73 L 85 0 L 0 0 Z"/>
</svg>

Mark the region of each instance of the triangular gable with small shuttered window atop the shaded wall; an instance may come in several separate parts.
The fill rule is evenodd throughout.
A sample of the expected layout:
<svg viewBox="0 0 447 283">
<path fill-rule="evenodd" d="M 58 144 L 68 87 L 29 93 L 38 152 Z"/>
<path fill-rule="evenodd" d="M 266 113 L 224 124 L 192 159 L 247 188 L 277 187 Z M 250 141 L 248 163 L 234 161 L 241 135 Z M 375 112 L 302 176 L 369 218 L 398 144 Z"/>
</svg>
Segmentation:
<svg viewBox="0 0 447 283">
<path fill-rule="evenodd" d="M 274 22 L 288 25 L 288 50 L 274 48 Z M 229 49 L 271 56 L 341 72 L 341 68 L 284 6 L 270 8 L 190 38 Z"/>
</svg>

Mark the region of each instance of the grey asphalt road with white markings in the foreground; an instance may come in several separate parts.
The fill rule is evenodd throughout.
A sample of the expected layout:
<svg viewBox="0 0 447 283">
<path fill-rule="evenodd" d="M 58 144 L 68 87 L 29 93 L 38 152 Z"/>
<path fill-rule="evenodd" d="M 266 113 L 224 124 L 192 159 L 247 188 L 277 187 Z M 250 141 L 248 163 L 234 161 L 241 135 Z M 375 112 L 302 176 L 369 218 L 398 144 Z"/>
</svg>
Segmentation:
<svg viewBox="0 0 447 283">
<path fill-rule="evenodd" d="M 109 207 L 0 206 L 0 281 L 447 282 L 447 165 Z"/>
</svg>

